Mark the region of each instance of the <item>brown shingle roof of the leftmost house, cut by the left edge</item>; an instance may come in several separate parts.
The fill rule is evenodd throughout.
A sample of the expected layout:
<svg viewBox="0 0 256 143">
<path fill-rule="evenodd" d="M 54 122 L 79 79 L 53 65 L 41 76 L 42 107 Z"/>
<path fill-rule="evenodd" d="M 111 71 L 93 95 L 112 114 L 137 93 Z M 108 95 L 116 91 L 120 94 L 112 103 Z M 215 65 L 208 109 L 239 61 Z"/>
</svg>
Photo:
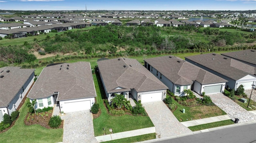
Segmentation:
<svg viewBox="0 0 256 143">
<path fill-rule="evenodd" d="M 0 72 L 0 76 L 4 76 L 0 78 L 0 107 L 7 107 L 34 72 L 34 69 L 2 67 Z"/>
</svg>

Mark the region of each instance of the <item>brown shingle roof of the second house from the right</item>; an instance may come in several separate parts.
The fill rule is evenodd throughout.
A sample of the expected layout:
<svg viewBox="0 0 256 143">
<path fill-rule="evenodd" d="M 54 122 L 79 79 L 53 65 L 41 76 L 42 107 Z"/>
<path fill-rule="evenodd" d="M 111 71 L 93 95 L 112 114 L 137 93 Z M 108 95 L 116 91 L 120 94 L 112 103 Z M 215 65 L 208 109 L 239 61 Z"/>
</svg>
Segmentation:
<svg viewBox="0 0 256 143">
<path fill-rule="evenodd" d="M 194 61 L 233 80 L 238 80 L 248 74 L 256 74 L 256 67 L 216 53 L 195 55 L 186 57 L 186 59 Z"/>
</svg>

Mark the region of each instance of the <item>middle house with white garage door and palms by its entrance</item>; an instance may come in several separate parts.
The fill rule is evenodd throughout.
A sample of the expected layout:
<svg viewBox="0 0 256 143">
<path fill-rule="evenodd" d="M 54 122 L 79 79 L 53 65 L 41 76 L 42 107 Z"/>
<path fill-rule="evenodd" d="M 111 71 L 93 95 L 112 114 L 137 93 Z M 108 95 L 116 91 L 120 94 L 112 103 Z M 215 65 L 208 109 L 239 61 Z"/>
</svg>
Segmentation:
<svg viewBox="0 0 256 143">
<path fill-rule="evenodd" d="M 115 58 L 98 61 L 98 69 L 108 102 L 116 94 L 129 96 L 142 103 L 166 98 L 165 86 L 136 59 Z"/>
</svg>

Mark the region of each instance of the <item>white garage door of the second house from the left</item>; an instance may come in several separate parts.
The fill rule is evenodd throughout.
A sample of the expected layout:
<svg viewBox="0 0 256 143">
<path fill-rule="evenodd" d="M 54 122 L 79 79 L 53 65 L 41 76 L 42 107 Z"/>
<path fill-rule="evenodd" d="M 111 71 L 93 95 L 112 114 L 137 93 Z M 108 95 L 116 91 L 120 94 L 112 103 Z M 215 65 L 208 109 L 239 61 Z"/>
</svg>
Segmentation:
<svg viewBox="0 0 256 143">
<path fill-rule="evenodd" d="M 90 100 L 78 101 L 78 102 L 65 102 L 65 111 L 64 112 L 74 112 L 82 110 L 90 110 L 91 108 Z"/>
</svg>

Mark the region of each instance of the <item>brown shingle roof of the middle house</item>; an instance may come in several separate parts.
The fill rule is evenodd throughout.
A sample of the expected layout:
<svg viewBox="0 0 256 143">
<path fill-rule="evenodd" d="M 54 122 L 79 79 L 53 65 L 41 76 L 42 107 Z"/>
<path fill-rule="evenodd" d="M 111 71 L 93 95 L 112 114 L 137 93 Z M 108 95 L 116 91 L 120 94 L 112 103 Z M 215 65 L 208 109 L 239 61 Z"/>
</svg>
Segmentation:
<svg viewBox="0 0 256 143">
<path fill-rule="evenodd" d="M 158 78 L 136 59 L 116 58 L 98 61 L 98 68 L 108 93 L 118 91 L 137 92 L 167 89 Z M 116 88 L 122 89 L 116 89 Z"/>
</svg>

